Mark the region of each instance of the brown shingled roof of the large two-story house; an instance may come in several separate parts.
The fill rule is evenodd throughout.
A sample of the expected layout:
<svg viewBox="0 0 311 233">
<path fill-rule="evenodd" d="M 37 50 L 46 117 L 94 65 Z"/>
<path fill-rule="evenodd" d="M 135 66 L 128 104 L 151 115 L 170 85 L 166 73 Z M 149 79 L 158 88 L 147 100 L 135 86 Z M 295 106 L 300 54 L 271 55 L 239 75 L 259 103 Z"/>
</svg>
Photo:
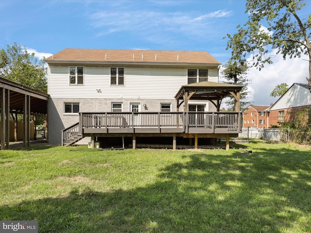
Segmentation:
<svg viewBox="0 0 311 233">
<path fill-rule="evenodd" d="M 65 49 L 47 63 L 153 63 L 221 65 L 206 51 Z"/>
</svg>

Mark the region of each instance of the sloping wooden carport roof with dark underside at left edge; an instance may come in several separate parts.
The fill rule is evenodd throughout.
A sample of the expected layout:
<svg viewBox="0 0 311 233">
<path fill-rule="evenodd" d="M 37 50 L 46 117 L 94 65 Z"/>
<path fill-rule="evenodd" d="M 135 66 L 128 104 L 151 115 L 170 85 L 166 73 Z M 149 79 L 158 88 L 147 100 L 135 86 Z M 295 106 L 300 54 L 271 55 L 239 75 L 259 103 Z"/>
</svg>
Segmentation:
<svg viewBox="0 0 311 233">
<path fill-rule="evenodd" d="M 0 88 L 10 90 L 10 112 L 23 113 L 23 98 L 30 96 L 31 115 L 48 113 L 49 94 L 0 78 Z M 0 97 L 1 100 L 1 97 Z"/>
</svg>

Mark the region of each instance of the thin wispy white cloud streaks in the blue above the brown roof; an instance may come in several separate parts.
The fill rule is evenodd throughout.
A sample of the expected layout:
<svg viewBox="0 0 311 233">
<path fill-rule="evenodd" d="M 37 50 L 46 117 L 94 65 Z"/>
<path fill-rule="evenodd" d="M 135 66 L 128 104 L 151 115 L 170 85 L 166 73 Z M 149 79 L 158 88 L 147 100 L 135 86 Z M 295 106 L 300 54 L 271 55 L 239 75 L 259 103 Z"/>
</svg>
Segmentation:
<svg viewBox="0 0 311 233">
<path fill-rule="evenodd" d="M 90 15 L 89 18 L 90 25 L 98 31 L 97 36 L 124 32 L 133 33 L 153 43 L 161 43 L 168 37 L 171 37 L 171 43 L 177 43 L 180 38 L 207 40 L 213 31 L 210 18 L 230 15 L 231 11 L 224 10 L 199 17 L 193 13 L 181 12 L 127 11 L 120 14 L 114 11 L 99 11 Z M 198 28 L 200 30 L 194 30 Z"/>
</svg>

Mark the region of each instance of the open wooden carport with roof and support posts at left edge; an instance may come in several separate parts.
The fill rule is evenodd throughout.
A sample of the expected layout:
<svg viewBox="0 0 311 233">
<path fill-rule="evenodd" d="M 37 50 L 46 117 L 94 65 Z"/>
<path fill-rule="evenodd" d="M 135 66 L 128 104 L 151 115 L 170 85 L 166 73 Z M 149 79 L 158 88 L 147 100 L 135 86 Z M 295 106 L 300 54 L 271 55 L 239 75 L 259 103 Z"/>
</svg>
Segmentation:
<svg viewBox="0 0 311 233">
<path fill-rule="evenodd" d="M 30 115 L 47 116 L 49 94 L 0 78 L 1 150 L 9 149 L 11 113 L 23 115 L 24 147 L 30 146 Z"/>
</svg>

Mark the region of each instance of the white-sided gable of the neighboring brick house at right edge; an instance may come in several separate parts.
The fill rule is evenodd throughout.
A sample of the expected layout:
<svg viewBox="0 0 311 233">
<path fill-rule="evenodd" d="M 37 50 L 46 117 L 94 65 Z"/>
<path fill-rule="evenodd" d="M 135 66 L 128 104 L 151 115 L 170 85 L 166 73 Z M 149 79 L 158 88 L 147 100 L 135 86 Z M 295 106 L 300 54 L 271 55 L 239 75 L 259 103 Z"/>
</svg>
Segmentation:
<svg viewBox="0 0 311 233">
<path fill-rule="evenodd" d="M 269 108 L 269 111 L 311 105 L 311 93 L 306 83 L 294 83 Z"/>
</svg>

